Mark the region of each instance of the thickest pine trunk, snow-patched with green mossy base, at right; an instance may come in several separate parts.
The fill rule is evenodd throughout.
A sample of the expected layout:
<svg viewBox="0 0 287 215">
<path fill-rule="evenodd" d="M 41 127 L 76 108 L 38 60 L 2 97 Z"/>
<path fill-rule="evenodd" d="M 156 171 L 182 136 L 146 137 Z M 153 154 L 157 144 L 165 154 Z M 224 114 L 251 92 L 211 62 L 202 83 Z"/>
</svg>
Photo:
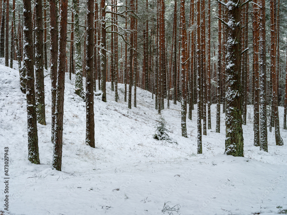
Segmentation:
<svg viewBox="0 0 287 215">
<path fill-rule="evenodd" d="M 229 1 L 230 2 L 230 1 Z M 241 2 L 234 0 L 227 7 L 226 26 L 226 155 L 243 157 L 243 130 L 241 110 Z M 239 23 L 239 24 L 238 24 Z"/>
</svg>

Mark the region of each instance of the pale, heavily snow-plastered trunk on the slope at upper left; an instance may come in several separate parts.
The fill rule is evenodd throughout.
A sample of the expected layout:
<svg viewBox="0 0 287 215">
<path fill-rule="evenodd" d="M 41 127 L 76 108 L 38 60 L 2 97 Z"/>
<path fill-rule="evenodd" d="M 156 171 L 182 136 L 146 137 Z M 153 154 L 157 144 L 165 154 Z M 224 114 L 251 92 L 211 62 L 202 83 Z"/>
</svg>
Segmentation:
<svg viewBox="0 0 287 215">
<path fill-rule="evenodd" d="M 75 93 L 85 99 L 83 88 L 83 69 L 81 59 L 81 36 L 79 28 L 79 9 L 77 0 L 73 0 L 73 14 L 74 14 L 74 32 L 75 32 Z"/>
</svg>

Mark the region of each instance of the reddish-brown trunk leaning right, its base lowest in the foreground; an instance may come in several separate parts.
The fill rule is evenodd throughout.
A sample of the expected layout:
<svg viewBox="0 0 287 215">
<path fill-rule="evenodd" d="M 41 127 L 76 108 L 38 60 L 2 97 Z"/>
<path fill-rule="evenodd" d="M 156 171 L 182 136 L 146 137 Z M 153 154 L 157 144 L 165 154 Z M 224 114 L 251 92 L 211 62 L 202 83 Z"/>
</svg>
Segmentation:
<svg viewBox="0 0 287 215">
<path fill-rule="evenodd" d="M 52 166 L 58 171 L 62 169 L 63 147 L 63 116 L 64 116 L 64 90 L 65 90 L 65 62 L 67 42 L 67 13 L 68 0 L 60 1 L 60 25 L 59 25 L 59 52 L 56 89 L 56 118 L 54 134 L 54 150 Z"/>
</svg>

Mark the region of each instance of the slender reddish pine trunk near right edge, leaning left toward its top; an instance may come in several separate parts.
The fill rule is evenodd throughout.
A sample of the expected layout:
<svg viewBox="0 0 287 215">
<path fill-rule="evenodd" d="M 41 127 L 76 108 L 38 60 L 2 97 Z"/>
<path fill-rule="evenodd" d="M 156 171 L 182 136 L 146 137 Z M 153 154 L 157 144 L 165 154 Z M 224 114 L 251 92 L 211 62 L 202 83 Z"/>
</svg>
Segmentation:
<svg viewBox="0 0 287 215">
<path fill-rule="evenodd" d="M 275 139 L 276 145 L 282 146 L 283 139 L 280 136 L 279 116 L 278 116 L 278 92 L 277 92 L 277 74 L 276 74 L 276 49 L 275 49 L 275 21 L 274 21 L 274 0 L 270 0 L 270 25 L 271 25 L 271 71 L 272 71 L 272 100 L 274 107 L 274 122 L 275 122 Z"/>
</svg>

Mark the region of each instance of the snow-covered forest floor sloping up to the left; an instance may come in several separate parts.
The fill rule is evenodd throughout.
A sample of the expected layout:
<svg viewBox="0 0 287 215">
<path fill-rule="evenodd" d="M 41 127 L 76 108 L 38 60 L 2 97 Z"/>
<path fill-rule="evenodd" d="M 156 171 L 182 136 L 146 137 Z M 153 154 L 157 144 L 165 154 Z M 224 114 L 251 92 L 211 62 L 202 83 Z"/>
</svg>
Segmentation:
<svg viewBox="0 0 287 215">
<path fill-rule="evenodd" d="M 62 172 L 51 168 L 51 79 L 45 71 L 46 126 L 38 124 L 40 165 L 28 161 L 26 96 L 19 72 L 0 65 L 0 211 L 4 214 L 277 214 L 287 209 L 287 131 L 284 146 L 268 132 L 268 153 L 253 146 L 253 108 L 243 125 L 244 156 L 224 155 L 225 126 L 203 136 L 197 155 L 196 108 L 181 136 L 180 104 L 162 111 L 171 138 L 153 139 L 158 121 L 151 93 L 137 88 L 137 108 L 119 102 L 107 83 L 107 102 L 95 96 L 96 148 L 85 144 L 85 102 L 66 74 Z M 14 67 L 18 67 L 14 62 Z M 47 76 L 48 75 L 48 76 Z M 97 83 L 98 88 L 98 83 Z M 133 96 L 132 96 L 133 97 Z M 133 99 L 132 99 L 133 102 Z M 133 103 L 132 103 L 133 104 Z M 283 108 L 279 107 L 283 128 Z M 9 147 L 9 211 L 4 210 L 4 147 Z M 176 206 L 177 205 L 177 206 Z M 3 212 L 0 212 L 2 214 Z"/>
</svg>

